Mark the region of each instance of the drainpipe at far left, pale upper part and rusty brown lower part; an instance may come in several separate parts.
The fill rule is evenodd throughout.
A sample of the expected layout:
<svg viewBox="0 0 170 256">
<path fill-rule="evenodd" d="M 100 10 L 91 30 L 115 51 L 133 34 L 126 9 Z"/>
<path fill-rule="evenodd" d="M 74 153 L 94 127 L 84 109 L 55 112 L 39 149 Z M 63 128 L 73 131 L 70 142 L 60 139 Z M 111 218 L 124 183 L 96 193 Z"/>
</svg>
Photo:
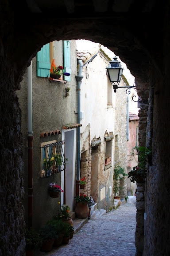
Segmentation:
<svg viewBox="0 0 170 256">
<path fill-rule="evenodd" d="M 33 212 L 33 136 L 32 136 L 32 61 L 27 68 L 28 76 L 28 227 L 32 227 Z"/>
</svg>

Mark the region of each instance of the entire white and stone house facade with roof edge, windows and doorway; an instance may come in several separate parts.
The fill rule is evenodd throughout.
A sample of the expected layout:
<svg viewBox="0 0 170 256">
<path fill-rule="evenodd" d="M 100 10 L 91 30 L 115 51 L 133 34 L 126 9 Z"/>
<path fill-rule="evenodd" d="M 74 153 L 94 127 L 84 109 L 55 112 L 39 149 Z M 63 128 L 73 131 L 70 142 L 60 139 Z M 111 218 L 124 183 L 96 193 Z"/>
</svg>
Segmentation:
<svg viewBox="0 0 170 256">
<path fill-rule="evenodd" d="M 127 96 L 124 88 L 124 93 L 113 91 L 106 70 L 111 59 L 100 45 L 89 52 L 77 52 L 77 58 L 83 65 L 80 174 L 87 180 L 81 192 L 92 196 L 96 207 L 108 212 L 114 207 L 115 163 L 127 172 Z M 123 79 L 120 86 L 126 86 Z M 110 163 L 105 164 L 108 156 Z M 126 195 L 124 184 L 122 198 Z"/>
</svg>

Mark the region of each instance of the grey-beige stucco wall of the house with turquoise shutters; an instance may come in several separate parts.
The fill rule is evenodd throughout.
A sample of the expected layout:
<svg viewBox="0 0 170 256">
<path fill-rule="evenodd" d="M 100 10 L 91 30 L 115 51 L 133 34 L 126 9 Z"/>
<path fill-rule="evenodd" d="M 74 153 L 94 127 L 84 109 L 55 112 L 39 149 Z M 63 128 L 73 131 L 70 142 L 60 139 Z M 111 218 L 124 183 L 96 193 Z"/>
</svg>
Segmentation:
<svg viewBox="0 0 170 256">
<path fill-rule="evenodd" d="M 63 43 L 54 42 L 54 59 L 56 65 L 63 65 Z M 42 132 L 60 130 L 65 124 L 76 123 L 77 115 L 77 59 L 75 54 L 76 44 L 72 40 L 70 44 L 71 56 L 71 81 L 66 84 L 50 82 L 44 77 L 37 77 L 36 57 L 32 60 L 32 108 L 33 108 L 33 227 L 39 229 L 52 216 L 58 213 L 56 202 L 60 198 L 49 197 L 48 185 L 50 182 L 61 184 L 61 173 L 49 178 L 40 178 L 41 171 L 41 143 L 52 140 L 61 141 L 62 134 L 40 138 Z M 69 96 L 64 97 L 65 88 L 70 87 Z M 22 110 L 23 133 L 23 161 L 25 164 L 24 189 L 25 189 L 25 220 L 28 218 L 28 141 L 27 141 L 27 72 L 21 82 L 21 90 L 17 91 L 19 104 Z M 62 188 L 63 189 L 63 188 Z M 63 193 L 62 193 L 63 196 Z M 55 204 L 54 204 L 55 200 Z"/>
</svg>

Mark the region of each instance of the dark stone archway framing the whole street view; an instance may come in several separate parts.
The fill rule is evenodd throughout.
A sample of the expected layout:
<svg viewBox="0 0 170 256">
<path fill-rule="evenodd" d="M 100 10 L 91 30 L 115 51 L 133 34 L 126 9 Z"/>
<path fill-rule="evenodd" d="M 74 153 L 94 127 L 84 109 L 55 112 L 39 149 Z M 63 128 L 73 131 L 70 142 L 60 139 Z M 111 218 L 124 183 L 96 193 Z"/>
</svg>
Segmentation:
<svg viewBox="0 0 170 256">
<path fill-rule="evenodd" d="M 57 3 L 50 6 L 47 1 L 39 7 L 37 1 L 35 6 L 28 6 L 27 1 L 19 6 L 3 0 L 0 6 L 0 230 L 4 244 L 1 250 L 6 255 L 24 255 L 21 112 L 15 90 L 43 44 L 81 38 L 100 42 L 120 56 L 136 78 L 138 95 L 150 95 L 148 129 L 143 139 L 152 145 L 153 165 L 147 174 L 143 255 L 170 253 L 170 5 L 168 1 L 162 5 L 158 1 L 123 1 L 122 6 L 116 1 L 93 2 L 62 3 L 60 13 Z M 13 227 L 14 220 L 19 232 L 13 236 L 9 227 Z M 13 240 L 9 248 L 6 241 L 10 237 Z"/>
</svg>

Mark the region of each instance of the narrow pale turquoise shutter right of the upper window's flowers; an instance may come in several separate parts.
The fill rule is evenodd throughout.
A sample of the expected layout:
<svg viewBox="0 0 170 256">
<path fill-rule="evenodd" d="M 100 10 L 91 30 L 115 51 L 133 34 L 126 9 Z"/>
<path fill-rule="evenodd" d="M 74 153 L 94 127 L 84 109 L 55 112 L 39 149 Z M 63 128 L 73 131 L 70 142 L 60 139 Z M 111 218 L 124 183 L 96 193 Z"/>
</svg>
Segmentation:
<svg viewBox="0 0 170 256">
<path fill-rule="evenodd" d="M 64 76 L 65 81 L 71 81 L 71 64 L 70 64 L 70 40 L 63 42 L 64 44 L 64 72 L 70 73 L 70 76 Z"/>
</svg>

